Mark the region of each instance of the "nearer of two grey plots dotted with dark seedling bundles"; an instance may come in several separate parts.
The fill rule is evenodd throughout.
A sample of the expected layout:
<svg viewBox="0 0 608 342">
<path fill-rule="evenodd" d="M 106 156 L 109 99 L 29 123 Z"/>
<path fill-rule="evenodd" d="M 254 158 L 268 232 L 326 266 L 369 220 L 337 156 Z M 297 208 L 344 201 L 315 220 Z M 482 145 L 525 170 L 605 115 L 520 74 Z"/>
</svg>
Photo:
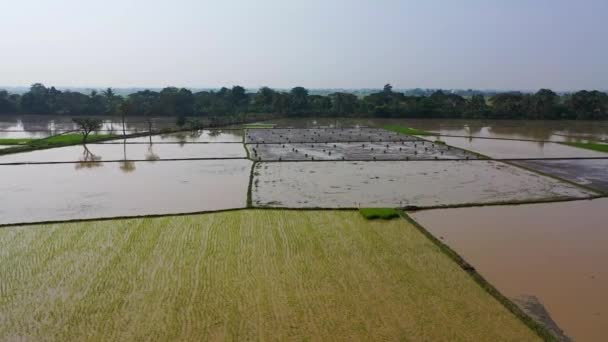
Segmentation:
<svg viewBox="0 0 608 342">
<path fill-rule="evenodd" d="M 478 155 L 430 141 L 376 143 L 247 144 L 259 161 L 478 159 Z"/>
</svg>

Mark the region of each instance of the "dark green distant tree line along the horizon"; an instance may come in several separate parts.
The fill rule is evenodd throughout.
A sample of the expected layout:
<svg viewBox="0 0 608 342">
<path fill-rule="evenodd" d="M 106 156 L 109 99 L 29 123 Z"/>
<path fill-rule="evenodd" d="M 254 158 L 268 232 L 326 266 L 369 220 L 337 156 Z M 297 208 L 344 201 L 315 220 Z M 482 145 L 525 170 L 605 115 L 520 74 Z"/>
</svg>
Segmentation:
<svg viewBox="0 0 608 342">
<path fill-rule="evenodd" d="M 347 92 L 311 95 L 303 87 L 277 91 L 263 87 L 248 93 L 241 86 L 193 93 L 185 88 L 138 91 L 119 96 L 108 88 L 86 95 L 34 84 L 23 95 L 0 90 L 0 114 L 122 115 L 221 117 L 267 113 L 284 116 L 375 116 L 392 118 L 473 119 L 608 119 L 608 95 L 578 91 L 558 95 L 549 89 L 534 94 L 508 92 L 491 97 L 462 97 L 435 91 L 428 96 L 405 95 L 390 84 L 357 97 Z"/>
</svg>

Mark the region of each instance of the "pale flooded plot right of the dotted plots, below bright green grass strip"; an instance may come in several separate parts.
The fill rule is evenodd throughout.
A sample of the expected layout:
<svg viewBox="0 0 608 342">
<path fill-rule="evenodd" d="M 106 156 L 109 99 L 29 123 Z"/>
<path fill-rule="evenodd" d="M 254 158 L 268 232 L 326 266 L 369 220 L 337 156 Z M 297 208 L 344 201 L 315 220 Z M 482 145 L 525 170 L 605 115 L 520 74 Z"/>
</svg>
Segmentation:
<svg viewBox="0 0 608 342">
<path fill-rule="evenodd" d="M 454 137 L 441 137 L 441 140 L 448 145 L 496 159 L 608 157 L 608 153 L 559 143 Z"/>
</svg>

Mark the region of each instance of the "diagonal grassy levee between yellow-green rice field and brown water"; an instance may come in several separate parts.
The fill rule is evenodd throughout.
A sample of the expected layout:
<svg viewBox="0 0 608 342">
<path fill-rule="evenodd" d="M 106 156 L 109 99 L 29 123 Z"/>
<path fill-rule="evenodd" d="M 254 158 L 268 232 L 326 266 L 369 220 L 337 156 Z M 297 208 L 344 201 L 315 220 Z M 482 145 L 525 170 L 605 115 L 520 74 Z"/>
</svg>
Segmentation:
<svg viewBox="0 0 608 342">
<path fill-rule="evenodd" d="M 502 303 L 505 308 L 511 311 L 516 317 L 518 317 L 524 324 L 526 324 L 532 331 L 534 331 L 539 337 L 545 341 L 558 341 L 558 339 L 542 324 L 532 319 L 523 310 L 521 310 L 515 303 L 509 298 L 505 297 L 500 291 L 498 291 L 492 284 L 485 280 L 473 266 L 466 262 L 458 253 L 451 249 L 448 245 L 444 244 L 441 240 L 437 239 L 433 234 L 421 226 L 416 220 L 410 217 L 407 213 L 401 211 L 402 217 L 409 222 L 413 227 L 416 227 L 423 235 L 425 235 L 430 241 L 432 241 L 440 250 L 445 253 L 450 259 L 458 264 L 464 271 L 466 271 L 471 278 L 487 293 L 494 297 L 497 301 Z"/>
</svg>

